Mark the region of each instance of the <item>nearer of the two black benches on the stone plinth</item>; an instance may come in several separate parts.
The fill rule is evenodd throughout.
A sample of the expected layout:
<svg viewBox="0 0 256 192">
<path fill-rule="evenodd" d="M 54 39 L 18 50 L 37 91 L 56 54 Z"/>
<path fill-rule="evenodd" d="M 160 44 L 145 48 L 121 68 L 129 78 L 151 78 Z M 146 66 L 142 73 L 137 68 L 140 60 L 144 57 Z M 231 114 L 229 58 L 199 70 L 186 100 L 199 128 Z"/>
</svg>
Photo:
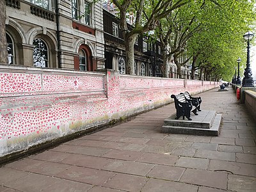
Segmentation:
<svg viewBox="0 0 256 192">
<path fill-rule="evenodd" d="M 171 95 L 171 97 L 174 99 L 175 108 L 176 108 L 176 117 L 175 119 L 179 119 L 180 116 L 183 117 L 183 120 L 188 118 L 188 120 L 192 120 L 190 118 L 190 113 L 193 112 L 195 115 L 198 115 L 196 113 L 196 107 L 193 106 L 192 102 L 189 100 L 186 100 L 186 97 L 184 94 L 178 94 L 178 95 Z"/>
</svg>

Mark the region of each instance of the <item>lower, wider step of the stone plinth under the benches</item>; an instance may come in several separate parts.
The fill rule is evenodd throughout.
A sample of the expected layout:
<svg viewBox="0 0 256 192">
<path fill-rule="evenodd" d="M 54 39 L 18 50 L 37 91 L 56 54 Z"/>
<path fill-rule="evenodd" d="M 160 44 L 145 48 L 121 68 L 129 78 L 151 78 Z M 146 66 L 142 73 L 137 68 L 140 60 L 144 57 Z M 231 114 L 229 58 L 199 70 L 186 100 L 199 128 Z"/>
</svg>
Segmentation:
<svg viewBox="0 0 256 192">
<path fill-rule="evenodd" d="M 163 125 L 161 132 L 175 134 L 194 134 L 204 136 L 218 136 L 220 132 L 221 114 L 216 114 L 210 128 L 202 129 L 198 127 L 175 127 Z"/>
</svg>

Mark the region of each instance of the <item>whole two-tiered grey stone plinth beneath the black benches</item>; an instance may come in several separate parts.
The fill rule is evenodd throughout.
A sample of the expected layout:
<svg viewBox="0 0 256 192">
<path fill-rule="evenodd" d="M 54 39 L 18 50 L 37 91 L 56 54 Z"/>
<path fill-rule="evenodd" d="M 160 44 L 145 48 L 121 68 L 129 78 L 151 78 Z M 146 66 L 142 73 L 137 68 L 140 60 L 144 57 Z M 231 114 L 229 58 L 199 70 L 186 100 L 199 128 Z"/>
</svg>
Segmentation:
<svg viewBox="0 0 256 192">
<path fill-rule="evenodd" d="M 161 129 L 163 133 L 195 134 L 205 136 L 218 136 L 221 122 L 221 114 L 216 111 L 200 111 L 198 115 L 192 115 L 192 120 L 175 120 L 176 114 L 164 120 Z"/>
</svg>

